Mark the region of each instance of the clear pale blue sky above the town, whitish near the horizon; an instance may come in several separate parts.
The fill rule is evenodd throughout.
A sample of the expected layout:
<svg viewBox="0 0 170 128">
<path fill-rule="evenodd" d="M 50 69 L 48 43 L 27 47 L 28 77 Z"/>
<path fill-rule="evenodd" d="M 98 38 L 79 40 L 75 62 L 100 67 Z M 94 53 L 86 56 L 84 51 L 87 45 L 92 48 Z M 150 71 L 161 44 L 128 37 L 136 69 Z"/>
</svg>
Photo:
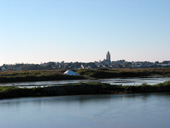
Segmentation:
<svg viewBox="0 0 170 128">
<path fill-rule="evenodd" d="M 170 60 L 170 0 L 0 0 L 0 65 Z"/>
</svg>

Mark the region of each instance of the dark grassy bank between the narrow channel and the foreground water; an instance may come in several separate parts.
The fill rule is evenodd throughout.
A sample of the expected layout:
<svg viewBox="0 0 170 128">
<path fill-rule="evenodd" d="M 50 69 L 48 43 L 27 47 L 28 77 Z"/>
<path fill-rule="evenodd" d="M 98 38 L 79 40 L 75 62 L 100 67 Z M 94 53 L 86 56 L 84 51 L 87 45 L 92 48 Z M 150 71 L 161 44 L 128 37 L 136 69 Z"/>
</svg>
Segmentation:
<svg viewBox="0 0 170 128">
<path fill-rule="evenodd" d="M 170 82 L 157 85 L 121 86 L 103 83 L 79 83 L 44 88 L 0 87 L 0 99 L 14 97 L 39 97 L 88 94 L 120 94 L 170 92 Z"/>
</svg>

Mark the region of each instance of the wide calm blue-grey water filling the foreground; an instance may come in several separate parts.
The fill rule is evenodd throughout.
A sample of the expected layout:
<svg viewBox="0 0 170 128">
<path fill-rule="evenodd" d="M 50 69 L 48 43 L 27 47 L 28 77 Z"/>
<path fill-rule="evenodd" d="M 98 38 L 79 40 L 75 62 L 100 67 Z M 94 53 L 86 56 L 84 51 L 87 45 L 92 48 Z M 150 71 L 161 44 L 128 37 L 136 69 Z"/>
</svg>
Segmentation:
<svg viewBox="0 0 170 128">
<path fill-rule="evenodd" d="M 0 100 L 1 128 L 169 128 L 170 93 Z"/>
</svg>

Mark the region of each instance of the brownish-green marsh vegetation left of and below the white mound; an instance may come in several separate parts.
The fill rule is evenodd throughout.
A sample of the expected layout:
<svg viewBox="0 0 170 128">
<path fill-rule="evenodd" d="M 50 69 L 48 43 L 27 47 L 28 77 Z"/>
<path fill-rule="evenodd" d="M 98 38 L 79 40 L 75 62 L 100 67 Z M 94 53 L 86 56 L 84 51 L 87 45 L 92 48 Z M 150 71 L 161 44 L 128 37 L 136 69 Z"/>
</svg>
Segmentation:
<svg viewBox="0 0 170 128">
<path fill-rule="evenodd" d="M 62 70 L 0 72 L 0 83 L 84 79 L 82 76 L 63 75 Z"/>
</svg>

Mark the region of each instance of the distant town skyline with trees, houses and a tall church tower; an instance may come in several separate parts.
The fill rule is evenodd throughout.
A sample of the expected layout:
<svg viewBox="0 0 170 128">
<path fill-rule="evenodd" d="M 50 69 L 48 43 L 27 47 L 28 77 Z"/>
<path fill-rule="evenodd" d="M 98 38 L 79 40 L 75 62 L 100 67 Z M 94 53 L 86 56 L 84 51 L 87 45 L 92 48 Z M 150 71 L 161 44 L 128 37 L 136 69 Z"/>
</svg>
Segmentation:
<svg viewBox="0 0 170 128">
<path fill-rule="evenodd" d="M 160 68 L 170 67 L 170 61 L 149 62 L 149 61 L 126 61 L 126 60 L 111 60 L 111 53 L 108 51 L 103 60 L 93 62 L 44 62 L 41 64 L 17 63 L 3 64 L 0 66 L 1 71 L 8 70 L 56 70 L 56 69 L 97 69 L 97 68 Z"/>
</svg>

